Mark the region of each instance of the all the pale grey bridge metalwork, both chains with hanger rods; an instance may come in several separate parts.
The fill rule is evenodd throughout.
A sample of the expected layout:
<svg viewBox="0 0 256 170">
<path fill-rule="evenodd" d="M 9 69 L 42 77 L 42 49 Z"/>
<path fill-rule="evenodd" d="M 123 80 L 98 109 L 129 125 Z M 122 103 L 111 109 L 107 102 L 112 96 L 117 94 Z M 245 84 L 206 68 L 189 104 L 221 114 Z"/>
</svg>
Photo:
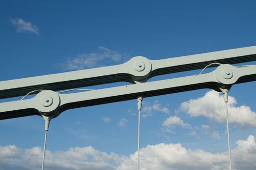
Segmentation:
<svg viewBox="0 0 256 170">
<path fill-rule="evenodd" d="M 53 119 L 67 109 L 126 101 L 137 99 L 138 97 L 145 98 L 201 88 L 211 88 L 221 92 L 221 89 L 230 89 L 235 84 L 256 81 L 256 65 L 239 67 L 230 65 L 249 61 L 256 61 L 256 46 L 162 60 L 149 60 L 145 57 L 137 56 L 117 66 L 1 81 L 0 99 L 34 93 L 38 89 L 41 90 L 31 99 L 0 103 L 0 119 L 31 115 Z M 157 75 L 205 68 L 205 66 L 213 67 L 214 64 L 219 64 L 220 66 L 210 73 L 201 74 L 203 69 L 199 75 L 146 83 L 149 78 Z M 62 91 L 66 92 L 74 90 L 71 88 L 121 81 L 130 82 L 134 85 L 85 90 L 85 92 L 71 94 L 55 92 L 56 90 L 67 89 Z M 45 138 L 46 135 L 47 132 Z M 42 165 L 43 163 L 44 159 Z"/>
</svg>

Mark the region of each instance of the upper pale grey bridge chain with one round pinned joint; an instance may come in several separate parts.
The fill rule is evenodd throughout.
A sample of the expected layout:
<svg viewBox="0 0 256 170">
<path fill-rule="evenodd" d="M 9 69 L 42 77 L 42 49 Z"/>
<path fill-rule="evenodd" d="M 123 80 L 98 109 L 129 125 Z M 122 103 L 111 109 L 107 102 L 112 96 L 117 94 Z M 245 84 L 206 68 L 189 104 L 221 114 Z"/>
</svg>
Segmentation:
<svg viewBox="0 0 256 170">
<path fill-rule="evenodd" d="M 38 89 L 56 91 L 120 81 L 146 82 L 157 75 L 204 68 L 215 62 L 235 64 L 249 61 L 256 61 L 256 46 L 162 60 L 148 60 L 138 56 L 117 66 L 2 81 L 0 99 L 25 95 Z"/>
</svg>

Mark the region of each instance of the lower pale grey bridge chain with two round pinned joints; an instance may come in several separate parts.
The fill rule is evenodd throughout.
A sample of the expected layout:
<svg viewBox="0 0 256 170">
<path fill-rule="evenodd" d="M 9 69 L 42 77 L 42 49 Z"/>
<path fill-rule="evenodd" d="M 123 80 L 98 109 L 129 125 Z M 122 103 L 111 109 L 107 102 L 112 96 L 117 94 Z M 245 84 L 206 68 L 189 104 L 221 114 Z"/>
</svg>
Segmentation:
<svg viewBox="0 0 256 170">
<path fill-rule="evenodd" d="M 223 64 L 210 73 L 169 80 L 71 94 L 58 94 L 52 90 L 44 90 L 31 99 L 0 103 L 0 119 L 30 115 L 51 115 L 55 118 L 61 112 L 72 108 L 137 99 L 138 96 L 145 98 L 201 88 L 211 88 L 220 92 L 219 88 L 227 88 L 234 84 L 255 80 L 256 65 L 234 67 Z M 46 101 L 50 101 L 50 103 Z"/>
</svg>

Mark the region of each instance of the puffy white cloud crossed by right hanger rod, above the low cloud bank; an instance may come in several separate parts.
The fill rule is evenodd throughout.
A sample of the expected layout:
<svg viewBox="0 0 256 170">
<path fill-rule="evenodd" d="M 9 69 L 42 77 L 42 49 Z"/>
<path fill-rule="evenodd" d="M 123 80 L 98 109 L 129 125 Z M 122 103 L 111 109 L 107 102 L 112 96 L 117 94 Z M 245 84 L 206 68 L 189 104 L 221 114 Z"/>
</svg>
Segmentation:
<svg viewBox="0 0 256 170">
<path fill-rule="evenodd" d="M 236 106 L 236 104 L 236 99 L 229 96 L 229 122 L 239 126 L 256 127 L 256 113 L 248 106 Z M 223 95 L 214 90 L 207 92 L 201 98 L 181 103 L 180 110 L 186 112 L 191 117 L 204 116 L 221 123 L 226 121 Z"/>
</svg>

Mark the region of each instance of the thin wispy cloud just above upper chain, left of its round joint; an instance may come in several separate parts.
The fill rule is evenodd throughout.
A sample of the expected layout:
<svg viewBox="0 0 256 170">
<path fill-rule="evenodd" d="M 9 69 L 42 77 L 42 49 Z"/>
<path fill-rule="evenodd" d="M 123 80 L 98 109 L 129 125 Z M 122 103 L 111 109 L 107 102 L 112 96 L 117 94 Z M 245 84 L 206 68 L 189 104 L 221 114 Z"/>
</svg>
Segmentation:
<svg viewBox="0 0 256 170">
<path fill-rule="evenodd" d="M 102 67 L 103 63 L 119 62 L 122 55 L 118 51 L 112 51 L 105 47 L 99 46 L 99 53 L 84 53 L 79 54 L 76 58 L 68 59 L 65 63 L 61 64 L 64 69 L 84 69 L 84 68 L 95 68 Z"/>
</svg>

